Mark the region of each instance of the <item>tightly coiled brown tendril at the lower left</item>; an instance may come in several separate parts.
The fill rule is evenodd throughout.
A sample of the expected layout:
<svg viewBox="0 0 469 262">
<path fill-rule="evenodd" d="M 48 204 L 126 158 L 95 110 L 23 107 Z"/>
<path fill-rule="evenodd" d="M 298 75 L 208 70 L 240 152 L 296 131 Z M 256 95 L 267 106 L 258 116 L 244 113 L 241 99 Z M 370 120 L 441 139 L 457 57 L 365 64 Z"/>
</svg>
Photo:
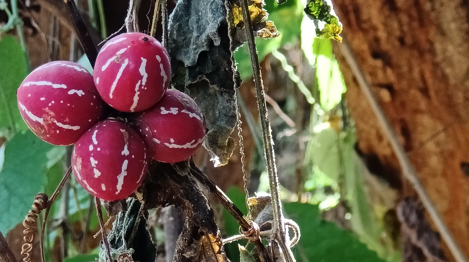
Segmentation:
<svg viewBox="0 0 469 262">
<path fill-rule="evenodd" d="M 34 197 L 32 208 L 29 210 L 28 215 L 24 218 L 24 244 L 21 247 L 21 255 L 23 255 L 23 262 L 31 262 L 30 252 L 32 249 L 32 242 L 36 236 L 36 226 L 38 223 L 38 214 L 41 210 L 46 208 L 48 196 L 45 193 L 39 193 Z"/>
</svg>

